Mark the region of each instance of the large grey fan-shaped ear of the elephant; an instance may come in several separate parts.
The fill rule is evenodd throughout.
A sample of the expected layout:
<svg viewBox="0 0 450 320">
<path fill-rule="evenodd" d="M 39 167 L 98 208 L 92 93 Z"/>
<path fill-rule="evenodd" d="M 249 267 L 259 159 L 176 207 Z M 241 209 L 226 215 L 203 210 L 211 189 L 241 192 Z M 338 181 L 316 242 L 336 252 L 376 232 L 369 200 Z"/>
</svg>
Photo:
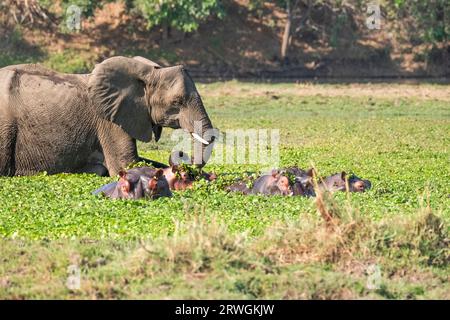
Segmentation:
<svg viewBox="0 0 450 320">
<path fill-rule="evenodd" d="M 98 115 L 144 142 L 152 138 L 146 79 L 153 72 L 155 66 L 137 59 L 113 57 L 98 64 L 88 82 L 89 96 Z"/>
</svg>

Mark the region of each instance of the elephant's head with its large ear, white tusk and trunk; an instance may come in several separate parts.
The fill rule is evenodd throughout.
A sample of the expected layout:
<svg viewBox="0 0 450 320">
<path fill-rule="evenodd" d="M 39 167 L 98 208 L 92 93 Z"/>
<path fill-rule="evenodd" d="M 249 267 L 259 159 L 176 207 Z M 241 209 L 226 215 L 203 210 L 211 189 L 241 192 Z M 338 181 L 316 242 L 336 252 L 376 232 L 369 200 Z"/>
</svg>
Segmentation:
<svg viewBox="0 0 450 320">
<path fill-rule="evenodd" d="M 89 77 L 88 90 L 100 117 L 120 126 L 132 138 L 158 141 L 163 127 L 182 128 L 210 152 L 213 129 L 202 99 L 183 66 L 163 68 L 142 57 L 112 57 L 98 64 Z M 202 157 L 204 165 L 208 157 Z"/>
</svg>

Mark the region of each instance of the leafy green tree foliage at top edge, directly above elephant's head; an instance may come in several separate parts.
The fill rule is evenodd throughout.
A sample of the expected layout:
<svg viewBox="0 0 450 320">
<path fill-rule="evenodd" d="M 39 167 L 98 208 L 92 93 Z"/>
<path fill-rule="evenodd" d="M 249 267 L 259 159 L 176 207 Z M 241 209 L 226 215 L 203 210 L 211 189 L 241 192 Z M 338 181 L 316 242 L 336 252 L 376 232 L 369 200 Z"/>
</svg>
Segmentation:
<svg viewBox="0 0 450 320">
<path fill-rule="evenodd" d="M 222 18 L 224 9 L 220 0 L 135 0 L 134 7 L 147 20 L 147 27 L 173 27 L 192 32 L 210 16 Z"/>
</svg>

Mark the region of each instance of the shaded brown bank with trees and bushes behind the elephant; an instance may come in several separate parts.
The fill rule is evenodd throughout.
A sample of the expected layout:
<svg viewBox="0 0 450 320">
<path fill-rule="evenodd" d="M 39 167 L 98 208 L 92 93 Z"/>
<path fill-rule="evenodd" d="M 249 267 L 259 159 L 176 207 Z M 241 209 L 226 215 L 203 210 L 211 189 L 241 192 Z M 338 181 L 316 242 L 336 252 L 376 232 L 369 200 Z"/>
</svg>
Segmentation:
<svg viewBox="0 0 450 320">
<path fill-rule="evenodd" d="M 82 73 L 141 55 L 185 64 L 197 79 L 448 79 L 448 2 L 379 1 L 381 29 L 370 30 L 371 2 L 3 0 L 0 66 Z M 66 25 L 72 4 L 79 31 Z"/>
</svg>

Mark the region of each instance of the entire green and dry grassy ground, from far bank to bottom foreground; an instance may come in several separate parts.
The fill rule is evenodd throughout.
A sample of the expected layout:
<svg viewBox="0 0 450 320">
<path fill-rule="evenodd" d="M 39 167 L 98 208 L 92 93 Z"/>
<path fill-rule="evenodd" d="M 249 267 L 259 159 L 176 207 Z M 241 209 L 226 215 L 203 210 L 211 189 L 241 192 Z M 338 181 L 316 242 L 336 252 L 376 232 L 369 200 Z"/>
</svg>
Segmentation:
<svg viewBox="0 0 450 320">
<path fill-rule="evenodd" d="M 329 232 L 314 199 L 223 191 L 258 166 L 208 164 L 227 175 L 157 201 L 97 198 L 114 179 L 93 175 L 0 178 L 0 297 L 449 298 L 448 86 L 198 87 L 221 130 L 279 128 L 281 166 L 353 171 L 373 188 L 327 200 L 341 212 Z M 173 144 L 165 130 L 139 149 L 166 162 Z M 71 263 L 82 290 L 64 285 Z M 383 283 L 368 290 L 373 264 Z"/>
</svg>

